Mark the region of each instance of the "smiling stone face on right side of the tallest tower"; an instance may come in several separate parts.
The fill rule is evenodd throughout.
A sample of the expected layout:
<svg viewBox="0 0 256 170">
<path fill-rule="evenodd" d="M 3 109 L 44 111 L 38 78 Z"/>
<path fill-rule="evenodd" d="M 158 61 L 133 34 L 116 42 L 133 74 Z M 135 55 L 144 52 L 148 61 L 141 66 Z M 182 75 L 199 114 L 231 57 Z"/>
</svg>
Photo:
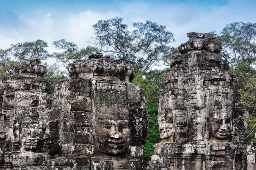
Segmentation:
<svg viewBox="0 0 256 170">
<path fill-rule="evenodd" d="M 231 130 L 231 109 L 213 111 L 211 121 L 211 136 L 213 139 L 227 139 Z"/>
</svg>

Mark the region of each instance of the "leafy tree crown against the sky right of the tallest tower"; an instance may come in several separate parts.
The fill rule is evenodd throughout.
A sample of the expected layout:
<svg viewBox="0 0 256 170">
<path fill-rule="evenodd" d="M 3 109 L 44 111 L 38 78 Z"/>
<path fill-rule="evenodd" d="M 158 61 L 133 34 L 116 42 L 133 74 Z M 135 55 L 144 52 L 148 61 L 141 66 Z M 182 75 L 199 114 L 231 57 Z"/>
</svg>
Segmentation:
<svg viewBox="0 0 256 170">
<path fill-rule="evenodd" d="M 231 67 L 240 60 L 249 64 L 256 62 L 256 23 L 233 22 L 227 24 L 217 36 L 216 42 L 222 45 L 222 57 Z"/>
</svg>

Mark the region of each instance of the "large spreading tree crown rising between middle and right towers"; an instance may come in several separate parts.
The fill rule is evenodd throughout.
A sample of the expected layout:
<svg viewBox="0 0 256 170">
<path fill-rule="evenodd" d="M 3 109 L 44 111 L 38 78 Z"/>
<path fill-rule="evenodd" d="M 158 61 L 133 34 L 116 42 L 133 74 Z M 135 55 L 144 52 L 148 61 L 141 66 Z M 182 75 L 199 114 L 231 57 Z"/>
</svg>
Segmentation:
<svg viewBox="0 0 256 170">
<path fill-rule="evenodd" d="M 133 23 L 135 29 L 128 31 L 123 18 L 99 20 L 93 25 L 95 37 L 92 44 L 100 46 L 111 57 L 133 61 L 137 68 L 148 71 L 164 57 L 171 57 L 173 34 L 165 26 L 146 21 Z"/>
</svg>

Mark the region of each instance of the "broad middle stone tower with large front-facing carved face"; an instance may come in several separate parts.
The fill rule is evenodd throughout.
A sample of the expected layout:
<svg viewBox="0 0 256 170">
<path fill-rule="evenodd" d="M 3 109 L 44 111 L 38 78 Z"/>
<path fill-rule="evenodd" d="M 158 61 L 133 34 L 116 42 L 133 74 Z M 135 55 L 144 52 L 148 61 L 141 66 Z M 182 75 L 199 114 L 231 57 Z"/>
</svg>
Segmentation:
<svg viewBox="0 0 256 170">
<path fill-rule="evenodd" d="M 148 116 L 132 62 L 95 54 L 67 66 L 45 132 L 46 167 L 142 170 Z"/>
</svg>

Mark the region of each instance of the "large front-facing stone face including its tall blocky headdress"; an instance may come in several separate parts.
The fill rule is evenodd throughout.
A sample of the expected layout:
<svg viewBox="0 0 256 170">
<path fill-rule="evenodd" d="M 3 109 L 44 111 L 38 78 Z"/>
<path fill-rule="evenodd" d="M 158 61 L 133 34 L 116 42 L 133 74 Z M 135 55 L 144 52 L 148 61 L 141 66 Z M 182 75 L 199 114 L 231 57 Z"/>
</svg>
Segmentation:
<svg viewBox="0 0 256 170">
<path fill-rule="evenodd" d="M 99 153 L 125 155 L 130 141 L 128 98 L 123 82 L 96 83 L 94 144 Z"/>
</svg>

